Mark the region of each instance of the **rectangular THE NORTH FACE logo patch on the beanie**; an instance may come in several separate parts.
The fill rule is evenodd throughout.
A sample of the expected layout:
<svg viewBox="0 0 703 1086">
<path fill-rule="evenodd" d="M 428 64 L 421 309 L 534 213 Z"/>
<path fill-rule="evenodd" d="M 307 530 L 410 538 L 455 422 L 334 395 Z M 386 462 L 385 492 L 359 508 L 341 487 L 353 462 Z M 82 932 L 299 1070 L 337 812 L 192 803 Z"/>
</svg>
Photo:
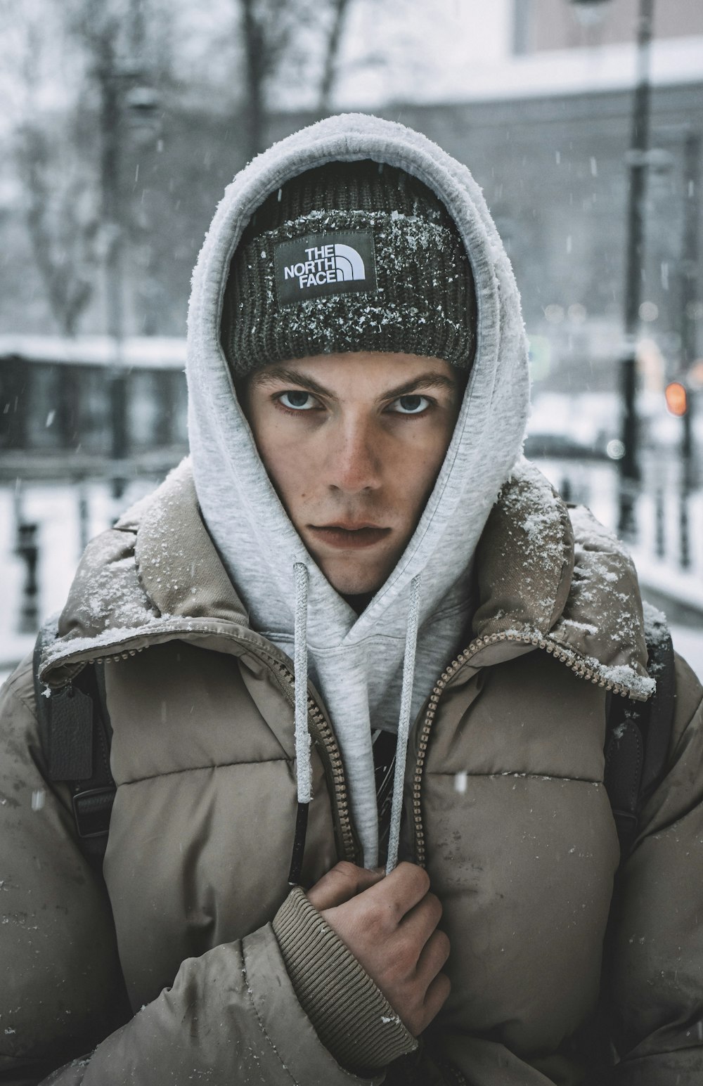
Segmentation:
<svg viewBox="0 0 703 1086">
<path fill-rule="evenodd" d="M 371 230 L 306 235 L 279 242 L 274 254 L 279 305 L 324 294 L 377 290 Z"/>
</svg>

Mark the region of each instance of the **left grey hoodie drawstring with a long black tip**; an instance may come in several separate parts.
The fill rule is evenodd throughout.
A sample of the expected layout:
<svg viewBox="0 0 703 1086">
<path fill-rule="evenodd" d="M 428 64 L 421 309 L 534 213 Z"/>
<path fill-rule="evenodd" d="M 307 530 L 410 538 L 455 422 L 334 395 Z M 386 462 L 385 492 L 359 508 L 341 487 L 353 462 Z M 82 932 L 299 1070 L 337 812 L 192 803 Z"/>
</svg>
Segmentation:
<svg viewBox="0 0 703 1086">
<path fill-rule="evenodd" d="M 293 669 L 296 677 L 296 775 L 298 813 L 288 882 L 300 883 L 307 830 L 307 810 L 312 799 L 310 732 L 307 730 L 307 570 L 302 561 L 293 566 L 296 574 L 296 621 L 293 628 Z"/>
</svg>

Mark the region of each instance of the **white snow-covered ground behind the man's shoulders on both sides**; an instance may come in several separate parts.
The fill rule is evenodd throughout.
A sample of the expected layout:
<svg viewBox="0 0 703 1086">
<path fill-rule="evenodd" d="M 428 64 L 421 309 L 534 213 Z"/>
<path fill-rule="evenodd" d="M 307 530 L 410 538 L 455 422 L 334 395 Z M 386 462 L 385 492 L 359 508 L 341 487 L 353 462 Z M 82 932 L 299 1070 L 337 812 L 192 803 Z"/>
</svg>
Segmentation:
<svg viewBox="0 0 703 1086">
<path fill-rule="evenodd" d="M 579 464 L 556 460 L 540 462 L 539 467 L 560 489 L 565 483 L 572 498 L 583 502 L 606 525 L 616 516 L 615 473 L 607 464 Z M 0 487 L 0 559 L 3 570 L 3 593 L 0 602 L 0 681 L 32 651 L 34 634 L 20 633 L 18 622 L 25 566 L 14 553 L 16 509 L 25 520 L 38 525 L 40 560 L 38 565 L 39 614 L 45 619 L 61 609 L 80 555 L 79 500 L 87 507 L 86 538 L 109 527 L 122 508 L 155 484 L 141 480 L 133 484 L 115 503 L 105 483 L 86 484 L 83 492 L 70 484 L 26 484 L 16 492 Z M 703 492 L 691 502 L 692 568 L 682 572 L 678 567 L 679 504 L 676 492 L 665 495 L 664 543 L 666 557 L 653 557 L 656 542 L 655 509 L 652 495 L 644 495 L 638 506 L 640 545 L 633 548 L 640 581 L 648 589 L 671 602 L 670 615 L 675 644 L 703 678 Z M 677 603 L 678 602 L 678 603 Z M 688 608 L 682 615 L 680 608 Z M 698 609 L 700 619 L 691 615 Z"/>
</svg>

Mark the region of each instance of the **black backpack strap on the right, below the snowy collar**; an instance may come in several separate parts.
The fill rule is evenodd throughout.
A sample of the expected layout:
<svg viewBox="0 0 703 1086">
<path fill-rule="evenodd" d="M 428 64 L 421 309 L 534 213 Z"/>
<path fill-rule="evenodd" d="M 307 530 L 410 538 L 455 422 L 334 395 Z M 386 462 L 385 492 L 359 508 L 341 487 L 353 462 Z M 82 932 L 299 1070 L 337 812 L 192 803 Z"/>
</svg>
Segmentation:
<svg viewBox="0 0 703 1086">
<path fill-rule="evenodd" d="M 643 605 L 648 664 L 656 682 L 649 702 L 613 695 L 606 710 L 605 787 L 625 855 L 637 835 L 641 809 L 664 775 L 676 706 L 674 645 L 664 616 Z"/>
</svg>

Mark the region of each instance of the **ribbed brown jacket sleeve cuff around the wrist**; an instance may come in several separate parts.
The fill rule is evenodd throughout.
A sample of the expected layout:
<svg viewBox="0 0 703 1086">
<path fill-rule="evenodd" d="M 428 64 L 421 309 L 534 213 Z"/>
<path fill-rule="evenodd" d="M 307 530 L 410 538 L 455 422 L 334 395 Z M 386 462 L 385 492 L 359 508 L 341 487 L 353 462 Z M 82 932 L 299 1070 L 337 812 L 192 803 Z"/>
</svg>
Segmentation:
<svg viewBox="0 0 703 1086">
<path fill-rule="evenodd" d="M 298 1001 L 341 1066 L 373 1077 L 417 1048 L 415 1037 L 300 886 L 281 905 L 273 927 Z"/>
</svg>

